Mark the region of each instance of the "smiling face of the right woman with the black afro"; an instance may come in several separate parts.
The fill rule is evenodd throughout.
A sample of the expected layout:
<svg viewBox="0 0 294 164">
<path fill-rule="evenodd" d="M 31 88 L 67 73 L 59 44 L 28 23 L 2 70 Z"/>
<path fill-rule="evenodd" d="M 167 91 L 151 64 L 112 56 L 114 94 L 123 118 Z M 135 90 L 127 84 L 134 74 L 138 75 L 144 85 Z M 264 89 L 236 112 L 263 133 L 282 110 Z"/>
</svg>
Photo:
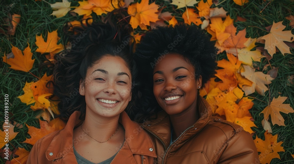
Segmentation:
<svg viewBox="0 0 294 164">
<path fill-rule="evenodd" d="M 196 110 L 197 88 L 202 78 L 195 79 L 194 67 L 183 56 L 167 54 L 153 70 L 153 93 L 158 104 L 169 115 Z"/>
</svg>

